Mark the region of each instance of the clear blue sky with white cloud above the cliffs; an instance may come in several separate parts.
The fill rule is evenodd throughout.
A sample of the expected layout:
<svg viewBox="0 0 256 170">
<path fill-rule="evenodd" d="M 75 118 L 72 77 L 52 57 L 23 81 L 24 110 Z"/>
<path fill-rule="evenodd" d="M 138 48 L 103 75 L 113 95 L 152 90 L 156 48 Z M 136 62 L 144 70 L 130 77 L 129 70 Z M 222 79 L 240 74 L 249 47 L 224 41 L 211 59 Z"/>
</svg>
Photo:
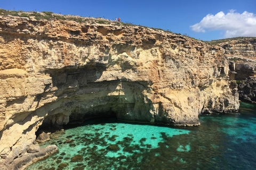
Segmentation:
<svg viewBox="0 0 256 170">
<path fill-rule="evenodd" d="M 109 20 L 120 17 L 122 22 L 169 29 L 202 40 L 256 36 L 256 0 L 0 0 L 0 8 L 15 8 L 15 11 L 52 11 L 94 18 L 104 17 Z"/>
</svg>

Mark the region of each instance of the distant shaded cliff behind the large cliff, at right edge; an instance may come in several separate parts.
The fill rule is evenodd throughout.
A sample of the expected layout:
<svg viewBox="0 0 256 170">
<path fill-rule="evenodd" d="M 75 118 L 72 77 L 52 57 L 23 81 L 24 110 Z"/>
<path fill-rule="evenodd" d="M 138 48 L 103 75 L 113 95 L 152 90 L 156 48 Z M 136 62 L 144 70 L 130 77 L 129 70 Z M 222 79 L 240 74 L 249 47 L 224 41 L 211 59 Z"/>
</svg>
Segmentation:
<svg viewBox="0 0 256 170">
<path fill-rule="evenodd" d="M 225 41 L 225 42 L 221 42 Z M 256 103 L 256 37 L 215 40 L 230 60 L 231 79 L 238 84 L 239 100 Z"/>
</svg>

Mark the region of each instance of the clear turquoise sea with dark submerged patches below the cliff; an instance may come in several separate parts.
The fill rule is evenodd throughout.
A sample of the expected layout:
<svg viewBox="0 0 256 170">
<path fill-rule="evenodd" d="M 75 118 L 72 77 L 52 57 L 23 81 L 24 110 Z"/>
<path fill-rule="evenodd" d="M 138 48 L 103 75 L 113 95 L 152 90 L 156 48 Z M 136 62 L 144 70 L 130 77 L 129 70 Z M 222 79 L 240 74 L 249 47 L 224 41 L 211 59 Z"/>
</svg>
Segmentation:
<svg viewBox="0 0 256 170">
<path fill-rule="evenodd" d="M 170 128 L 95 119 L 52 134 L 58 154 L 27 169 L 255 169 L 256 105 Z"/>
</svg>

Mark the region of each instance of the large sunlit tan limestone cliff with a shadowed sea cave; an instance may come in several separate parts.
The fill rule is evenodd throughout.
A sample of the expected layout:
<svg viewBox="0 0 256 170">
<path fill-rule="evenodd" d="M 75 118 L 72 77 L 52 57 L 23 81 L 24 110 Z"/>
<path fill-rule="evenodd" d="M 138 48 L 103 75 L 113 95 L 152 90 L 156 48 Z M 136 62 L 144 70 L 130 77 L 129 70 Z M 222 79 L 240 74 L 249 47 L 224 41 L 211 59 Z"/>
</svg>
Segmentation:
<svg viewBox="0 0 256 170">
<path fill-rule="evenodd" d="M 199 125 L 198 114 L 236 112 L 223 53 L 139 26 L 0 16 L 1 162 L 25 154 L 41 125 L 113 115 Z"/>
</svg>

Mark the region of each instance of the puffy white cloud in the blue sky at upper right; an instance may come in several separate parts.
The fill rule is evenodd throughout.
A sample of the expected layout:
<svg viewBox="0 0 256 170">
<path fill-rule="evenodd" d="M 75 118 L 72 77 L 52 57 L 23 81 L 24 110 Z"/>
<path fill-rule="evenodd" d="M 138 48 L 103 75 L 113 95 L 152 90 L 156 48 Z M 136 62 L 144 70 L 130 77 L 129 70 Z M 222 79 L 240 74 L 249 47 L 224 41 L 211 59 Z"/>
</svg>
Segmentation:
<svg viewBox="0 0 256 170">
<path fill-rule="evenodd" d="M 230 10 L 225 15 L 222 11 L 216 15 L 207 14 L 199 23 L 191 25 L 195 32 L 206 30 L 224 30 L 225 38 L 230 37 L 255 37 L 256 36 L 256 15 L 244 11 L 242 14 Z"/>
</svg>

